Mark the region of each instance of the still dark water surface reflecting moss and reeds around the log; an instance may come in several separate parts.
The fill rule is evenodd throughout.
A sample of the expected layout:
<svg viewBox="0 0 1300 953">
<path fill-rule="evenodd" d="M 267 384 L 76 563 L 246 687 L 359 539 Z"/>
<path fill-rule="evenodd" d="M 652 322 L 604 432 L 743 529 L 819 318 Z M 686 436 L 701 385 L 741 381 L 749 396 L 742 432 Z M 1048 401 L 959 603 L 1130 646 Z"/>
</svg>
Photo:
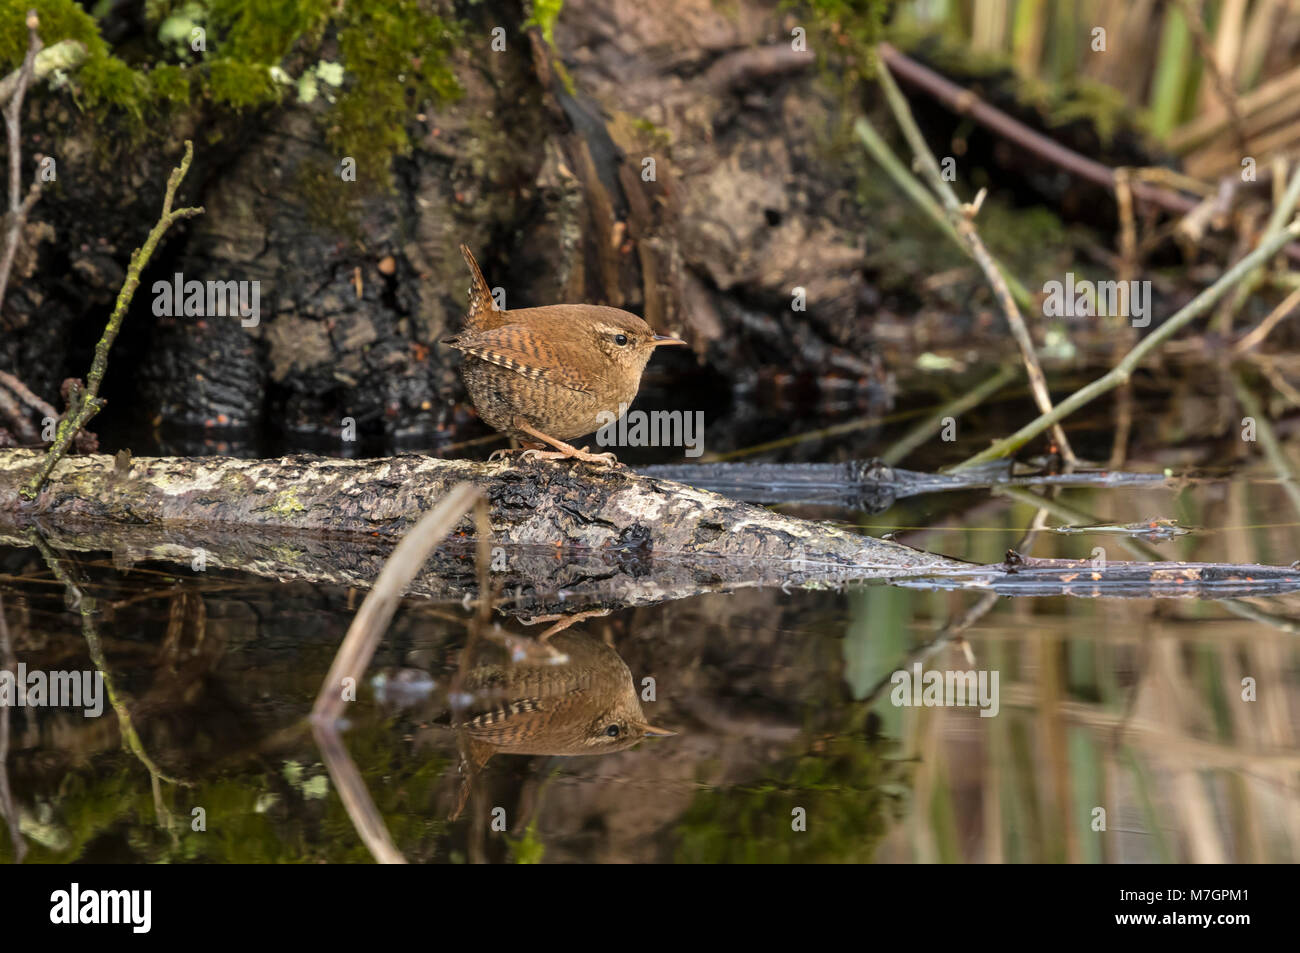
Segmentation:
<svg viewBox="0 0 1300 953">
<path fill-rule="evenodd" d="M 1023 495 L 786 508 L 976 562 L 1101 547 L 1288 564 L 1295 499 L 1256 459 L 1178 490 L 1062 490 L 1046 528 L 1101 525 L 1028 545 Z M 1108 529 L 1156 517 L 1196 529 L 1147 555 Z M 363 592 L 65 559 L 95 599 L 90 636 L 39 550 L 0 549 L 10 664 L 101 671 L 120 707 L 8 711 L 21 839 L 0 836 L 0 862 L 370 859 L 303 729 Z M 1300 861 L 1300 597 L 1002 598 L 935 642 L 980 601 L 880 585 L 701 594 L 584 619 L 552 640 L 581 671 L 534 659 L 525 677 L 500 673 L 498 644 L 462 654 L 462 605 L 408 599 L 344 741 L 415 862 Z M 996 705 L 896 705 L 890 675 L 918 662 L 996 673 Z M 448 697 L 474 693 L 450 724 Z M 593 701 L 529 720 L 552 698 Z M 615 702 L 619 744 L 572 757 Z M 633 709 L 676 733 L 625 746 Z"/>
</svg>

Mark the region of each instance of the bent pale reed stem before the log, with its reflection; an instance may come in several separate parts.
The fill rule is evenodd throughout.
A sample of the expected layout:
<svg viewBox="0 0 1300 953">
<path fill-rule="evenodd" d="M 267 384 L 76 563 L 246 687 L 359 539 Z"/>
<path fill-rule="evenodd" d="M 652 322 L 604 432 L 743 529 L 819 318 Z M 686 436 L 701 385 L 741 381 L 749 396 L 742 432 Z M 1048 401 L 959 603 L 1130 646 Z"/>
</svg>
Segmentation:
<svg viewBox="0 0 1300 953">
<path fill-rule="evenodd" d="M 458 484 L 433 510 L 426 512 L 415 528 L 396 545 L 384 564 L 365 601 L 352 618 L 343 644 L 334 655 L 334 663 L 325 675 L 316 705 L 312 706 L 312 736 L 321 750 L 325 768 L 338 789 L 361 841 L 380 863 L 406 863 L 402 852 L 393 844 L 387 826 L 374 806 L 361 772 L 347 753 L 339 736 L 339 718 L 343 714 L 344 680 L 351 686 L 360 683 L 365 667 L 374 657 L 380 640 L 393 621 L 393 614 L 411 580 L 424 567 L 433 549 L 442 542 L 472 506 L 477 503 L 478 519 L 478 619 L 486 620 L 491 610 L 488 572 L 491 563 L 491 541 L 488 530 L 488 510 L 482 494 L 471 484 Z"/>
</svg>

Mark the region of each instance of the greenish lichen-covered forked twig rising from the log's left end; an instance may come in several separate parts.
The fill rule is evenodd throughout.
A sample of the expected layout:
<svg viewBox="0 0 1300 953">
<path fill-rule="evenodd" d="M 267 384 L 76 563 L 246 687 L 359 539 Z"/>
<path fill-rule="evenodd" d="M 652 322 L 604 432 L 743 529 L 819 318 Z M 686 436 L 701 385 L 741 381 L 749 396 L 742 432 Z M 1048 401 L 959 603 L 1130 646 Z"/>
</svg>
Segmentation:
<svg viewBox="0 0 1300 953">
<path fill-rule="evenodd" d="M 203 207 L 199 208 L 172 208 L 172 203 L 176 199 L 176 190 L 181 185 L 181 179 L 190 170 L 190 161 L 194 159 L 194 143 L 188 139 L 185 140 L 185 157 L 181 160 L 181 165 L 172 170 L 172 176 L 166 182 L 166 194 L 162 199 L 162 215 L 157 220 L 157 224 L 150 230 L 148 237 L 144 239 L 144 244 L 131 252 L 131 261 L 126 269 L 126 281 L 122 282 L 122 290 L 117 294 L 117 304 L 113 306 L 113 313 L 108 319 L 108 325 L 104 328 L 104 334 L 100 337 L 99 343 L 95 345 L 95 356 L 91 360 L 90 373 L 86 376 L 84 387 L 73 387 L 69 394 L 68 412 L 64 415 L 62 420 L 58 421 L 58 430 L 55 434 L 55 443 L 49 447 L 46 454 L 46 459 L 40 465 L 38 473 L 31 478 L 31 481 L 22 488 L 22 495 L 25 499 L 35 499 L 36 494 L 40 491 L 42 484 L 53 471 L 58 460 L 62 459 L 64 454 L 72 446 L 73 439 L 81 433 L 81 429 L 90 423 L 91 417 L 99 413 L 104 408 L 104 400 L 99 397 L 99 386 L 104 381 L 104 373 L 108 371 L 108 351 L 113 347 L 113 341 L 117 339 L 117 333 L 122 329 L 122 320 L 126 317 L 126 309 L 131 304 L 131 298 L 135 295 L 135 289 L 140 283 L 140 272 L 144 270 L 144 265 L 153 256 L 155 248 L 157 248 L 159 242 L 162 241 L 162 235 L 166 230 L 182 218 L 191 218 L 196 215 L 203 215 Z"/>
</svg>

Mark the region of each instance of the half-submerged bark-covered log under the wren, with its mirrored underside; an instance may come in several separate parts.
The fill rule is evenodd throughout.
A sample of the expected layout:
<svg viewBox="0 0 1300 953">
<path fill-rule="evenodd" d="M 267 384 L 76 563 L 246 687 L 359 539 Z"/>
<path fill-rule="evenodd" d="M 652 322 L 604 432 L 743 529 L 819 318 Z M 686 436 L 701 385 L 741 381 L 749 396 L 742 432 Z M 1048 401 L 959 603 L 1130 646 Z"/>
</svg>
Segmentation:
<svg viewBox="0 0 1300 953">
<path fill-rule="evenodd" d="M 402 534 L 458 482 L 490 506 L 497 607 L 532 616 L 614 608 L 749 586 L 907 582 L 1006 594 L 1223 595 L 1300 589 L 1268 566 L 1009 559 L 976 566 L 802 520 L 684 484 L 550 460 L 474 463 L 408 454 L 70 456 L 34 501 L 35 451 L 0 451 L 0 545 L 112 551 L 289 580 L 368 588 Z M 477 595 L 472 519 L 412 593 Z"/>
</svg>

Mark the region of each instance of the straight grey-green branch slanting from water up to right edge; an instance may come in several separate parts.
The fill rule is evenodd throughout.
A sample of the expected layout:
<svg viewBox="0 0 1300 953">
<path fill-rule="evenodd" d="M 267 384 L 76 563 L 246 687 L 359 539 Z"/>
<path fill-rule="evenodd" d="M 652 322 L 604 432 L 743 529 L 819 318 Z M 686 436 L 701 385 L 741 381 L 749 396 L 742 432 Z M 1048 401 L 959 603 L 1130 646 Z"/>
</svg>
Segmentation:
<svg viewBox="0 0 1300 953">
<path fill-rule="evenodd" d="M 1300 173 L 1297 173 L 1297 177 L 1300 177 Z M 988 450 L 975 454 L 975 456 L 968 460 L 963 460 L 952 469 L 961 471 L 967 467 L 975 467 L 980 463 L 988 463 L 989 460 L 997 460 L 1009 454 L 1014 454 L 1031 439 L 1052 426 L 1052 424 L 1063 420 L 1084 404 L 1088 404 L 1102 394 L 1118 387 L 1128 380 L 1128 376 L 1139 364 L 1141 364 L 1147 355 L 1157 350 L 1184 325 L 1209 311 L 1214 303 L 1219 300 L 1219 298 L 1227 294 L 1227 291 L 1236 285 L 1236 282 L 1242 281 L 1242 278 L 1245 277 L 1253 268 L 1264 261 L 1268 261 L 1271 255 L 1275 255 L 1279 248 L 1296 237 L 1300 237 L 1300 221 L 1292 222 L 1286 229 L 1260 244 L 1258 248 L 1252 251 L 1244 259 L 1238 261 L 1226 274 L 1223 274 L 1223 277 L 1196 295 L 1196 298 L 1160 325 L 1160 328 L 1139 341 L 1138 345 L 1135 345 L 1134 348 L 1124 355 L 1123 360 L 1110 369 L 1110 372 L 1102 374 L 1092 384 L 1076 390 L 1074 394 L 1058 403 L 1050 413 L 1040 415 L 1013 433 L 1010 437 L 994 441 Z"/>
</svg>

